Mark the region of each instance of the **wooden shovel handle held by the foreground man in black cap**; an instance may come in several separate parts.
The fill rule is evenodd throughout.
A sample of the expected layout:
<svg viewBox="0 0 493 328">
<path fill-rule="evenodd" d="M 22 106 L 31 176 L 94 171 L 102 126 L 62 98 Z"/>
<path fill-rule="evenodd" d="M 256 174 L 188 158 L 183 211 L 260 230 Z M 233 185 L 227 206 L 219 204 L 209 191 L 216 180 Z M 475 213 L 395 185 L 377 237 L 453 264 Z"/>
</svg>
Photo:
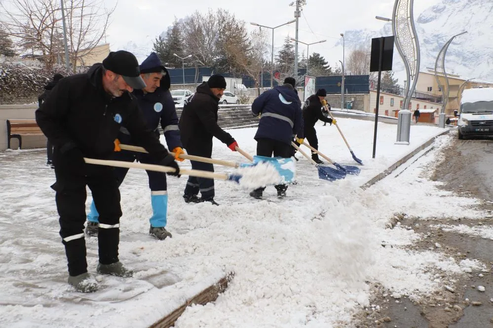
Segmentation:
<svg viewBox="0 0 493 328">
<path fill-rule="evenodd" d="M 123 149 L 123 148 L 122 148 Z M 123 161 L 108 161 L 108 160 L 96 160 L 92 158 L 85 158 L 84 161 L 87 164 L 97 164 L 97 165 L 107 165 L 116 167 L 126 167 L 126 168 L 140 168 L 144 170 L 157 171 L 157 172 L 175 172 L 176 169 L 169 166 L 155 165 L 155 164 L 144 164 L 144 163 L 134 163 L 134 162 L 123 162 Z M 209 171 L 201 170 L 188 170 L 180 169 L 180 174 L 196 176 L 199 178 L 217 179 L 217 180 L 228 180 L 228 174 L 226 173 L 214 173 Z"/>
</svg>

